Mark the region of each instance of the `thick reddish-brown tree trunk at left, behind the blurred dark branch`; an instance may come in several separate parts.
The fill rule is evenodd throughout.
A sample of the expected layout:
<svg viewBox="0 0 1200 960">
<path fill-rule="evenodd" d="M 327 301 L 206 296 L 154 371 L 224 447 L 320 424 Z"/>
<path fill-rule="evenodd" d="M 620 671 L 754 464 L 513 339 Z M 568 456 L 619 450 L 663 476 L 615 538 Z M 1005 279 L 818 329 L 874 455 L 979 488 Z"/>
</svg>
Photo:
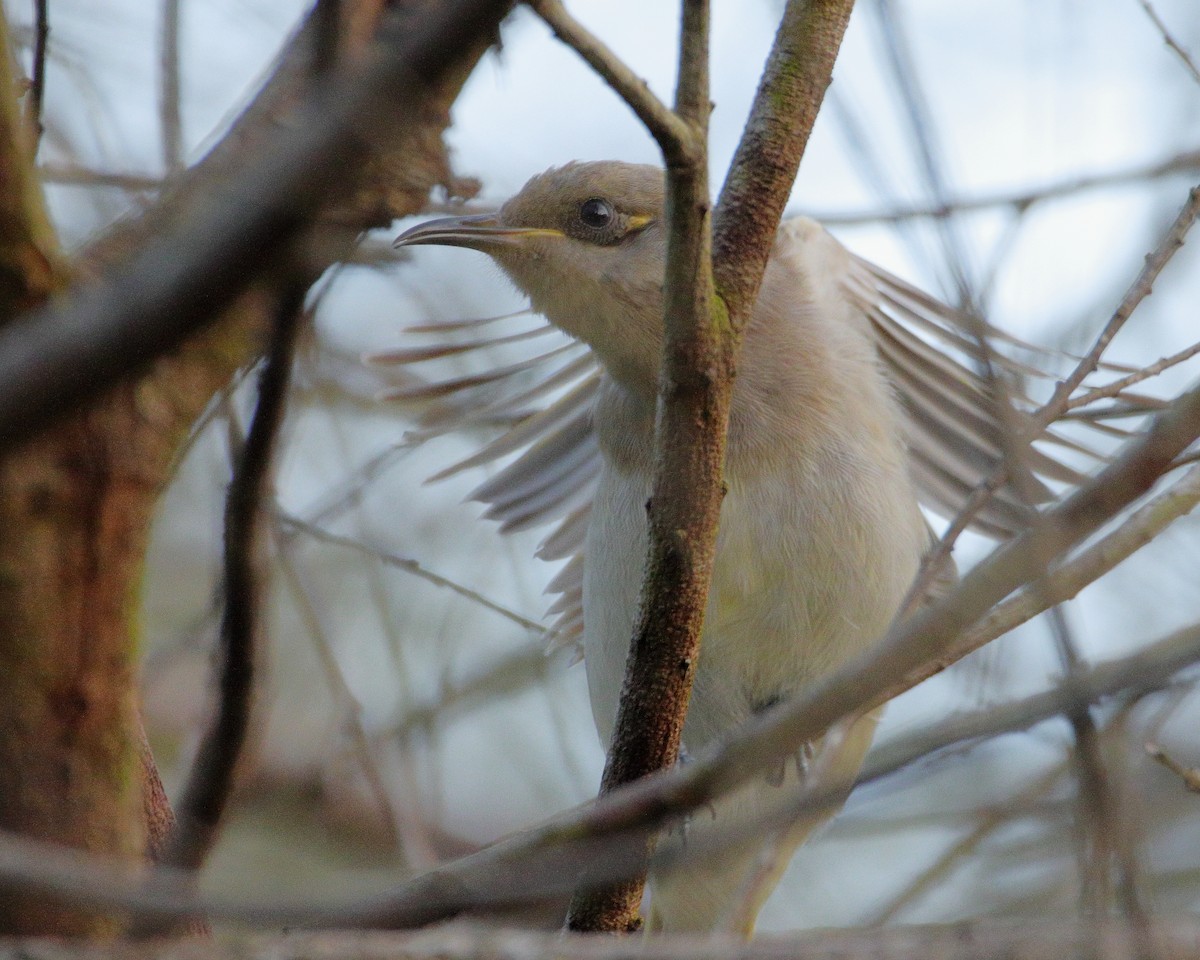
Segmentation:
<svg viewBox="0 0 1200 960">
<path fill-rule="evenodd" d="M 419 18 L 436 0 L 392 5 Z M 370 36 L 377 2 L 348 5 L 343 55 Z M 376 157 L 361 188 L 337 214 L 340 242 L 312 256 L 332 259 L 353 230 L 414 212 L 448 184 L 440 142 L 449 106 L 485 49 L 458 66 L 425 103 L 396 152 Z M 203 186 L 272 136 L 271 124 L 306 78 L 311 44 L 301 30 L 272 80 L 222 144 L 145 217 L 92 248 L 82 275 L 124 260 L 156 230 L 204 202 Z M 2 85 L 5 92 L 14 89 Z M 43 301 L 54 258 L 44 252 L 40 197 L 18 149 L 14 104 L 0 131 L 0 246 L 5 322 Z M 16 212 L 13 212 L 16 211 Z M 44 229 L 42 229 L 44 228 Z M 349 228 L 349 229 L 347 229 Z M 41 229 L 41 233 L 40 233 Z M 34 240 L 30 240 L 34 238 Z M 36 242 L 35 242 L 36 241 Z M 35 256 L 37 254 L 37 256 Z M 260 342 L 262 298 L 241 296 L 221 319 L 157 360 L 137 380 L 109 390 L 0 461 L 0 828 L 68 846 L 136 858 L 169 826 L 155 775 L 143 781 L 136 702 L 137 601 L 156 498 L 180 440 L 215 390 Z M 100 934 L 114 920 L 44 898 L 5 898 L 0 931 Z"/>
</svg>

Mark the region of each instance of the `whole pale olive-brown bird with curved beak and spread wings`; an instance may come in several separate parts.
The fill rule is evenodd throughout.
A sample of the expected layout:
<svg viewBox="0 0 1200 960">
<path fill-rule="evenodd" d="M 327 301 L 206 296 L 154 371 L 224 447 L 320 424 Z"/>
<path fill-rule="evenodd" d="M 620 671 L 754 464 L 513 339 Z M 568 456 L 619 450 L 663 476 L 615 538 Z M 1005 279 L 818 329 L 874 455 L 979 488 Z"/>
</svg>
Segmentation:
<svg viewBox="0 0 1200 960">
<path fill-rule="evenodd" d="M 664 329 L 665 181 L 659 167 L 572 162 L 533 176 L 498 210 L 440 217 L 395 240 L 486 253 L 530 308 L 577 348 L 554 348 L 496 371 L 392 391 L 425 403 L 424 436 L 490 426 L 498 434 L 449 475 L 517 456 L 480 486 L 502 529 L 556 523 L 539 556 L 565 560 L 551 592 L 552 634 L 580 643 L 600 739 L 617 715 L 647 552 L 646 504 Z M 412 365 L 532 334 L 382 352 Z M 422 328 L 428 331 L 436 329 Z M 979 372 L 1010 376 L 1008 428 L 1031 472 L 1001 486 L 973 526 L 1007 536 L 1031 497 L 1078 482 L 1068 466 L 1091 446 L 1034 425 L 1022 384 L 1050 374 L 992 353 L 998 331 L 852 254 L 818 223 L 779 228 L 749 317 L 734 380 L 712 590 L 683 746 L 695 755 L 731 730 L 869 652 L 913 586 L 935 542 L 922 505 L 954 516 L 1004 463 L 1006 434 Z M 1008 338 L 1012 341 L 1012 338 Z M 1028 344 L 1019 344 L 1027 347 Z M 574 352 L 572 352 L 574 350 Z M 1045 358 L 1034 348 L 1027 356 Z M 540 379 L 538 374 L 540 373 Z M 529 379 L 534 383 L 530 386 Z M 498 425 L 498 426 L 497 426 Z M 1038 443 L 1034 444 L 1033 442 Z M 937 580 L 953 580 L 953 562 Z M 800 842 L 828 811 L 767 832 L 752 826 L 802 784 L 848 785 L 877 712 L 809 744 L 792 764 L 697 815 L 661 844 L 680 854 L 649 878 L 647 929 L 750 936 Z M 740 833 L 738 833 L 740 828 Z M 685 856 L 710 833 L 740 839 L 715 856 Z M 746 838 L 750 839 L 746 839 Z"/>
</svg>

